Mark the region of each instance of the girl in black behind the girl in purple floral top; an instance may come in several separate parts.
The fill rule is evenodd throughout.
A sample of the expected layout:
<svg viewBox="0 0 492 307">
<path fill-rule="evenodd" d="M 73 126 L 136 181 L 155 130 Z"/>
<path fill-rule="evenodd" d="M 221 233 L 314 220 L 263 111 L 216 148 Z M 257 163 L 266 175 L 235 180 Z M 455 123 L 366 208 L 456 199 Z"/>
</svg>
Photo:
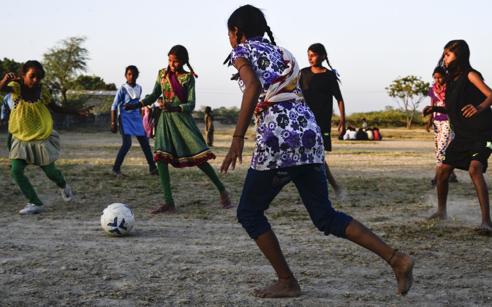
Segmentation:
<svg viewBox="0 0 492 307">
<path fill-rule="evenodd" d="M 333 115 L 333 97 L 337 99 L 340 110 L 340 122 L 338 123 L 338 138 L 343 139 L 345 135 L 345 105 L 338 86 L 338 72 L 333 69 L 328 61 L 325 46 L 320 43 L 312 44 L 307 49 L 309 67 L 301 69 L 300 85 L 303 90 L 304 99 L 314 114 L 316 123 L 321 129 L 325 151 L 332 151 L 331 129 Z M 322 63 L 328 63 L 330 69 L 323 67 Z M 333 187 L 335 196 L 341 193 L 341 188 L 330 172 L 325 161 L 326 179 Z"/>
</svg>

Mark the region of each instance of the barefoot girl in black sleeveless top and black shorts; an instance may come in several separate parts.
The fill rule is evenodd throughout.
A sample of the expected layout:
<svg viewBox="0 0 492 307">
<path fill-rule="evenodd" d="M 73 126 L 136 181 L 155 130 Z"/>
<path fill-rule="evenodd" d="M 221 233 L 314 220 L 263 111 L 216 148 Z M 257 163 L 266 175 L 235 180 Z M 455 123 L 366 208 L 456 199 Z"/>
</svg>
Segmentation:
<svg viewBox="0 0 492 307">
<path fill-rule="evenodd" d="M 444 46 L 439 66 L 448 71 L 446 106 L 427 106 L 422 116 L 432 112 L 446 113 L 455 131 L 442 166 L 437 172 L 437 211 L 429 218 L 447 218 L 449 178 L 455 168 L 468 171 L 477 191 L 482 211 L 482 224 L 475 231 L 492 232 L 489 189 L 484 173 L 492 153 L 492 90 L 482 74 L 470 65 L 470 49 L 462 40 Z"/>
</svg>

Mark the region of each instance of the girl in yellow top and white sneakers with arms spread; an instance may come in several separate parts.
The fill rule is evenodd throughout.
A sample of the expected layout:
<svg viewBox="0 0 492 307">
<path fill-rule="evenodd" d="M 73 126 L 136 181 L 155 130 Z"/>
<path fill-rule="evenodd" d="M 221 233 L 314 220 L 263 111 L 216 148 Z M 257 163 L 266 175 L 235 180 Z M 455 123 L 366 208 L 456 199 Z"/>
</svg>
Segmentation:
<svg viewBox="0 0 492 307">
<path fill-rule="evenodd" d="M 45 74 L 41 63 L 27 61 L 21 69 L 21 77 L 13 72 L 5 75 L 0 82 L 0 91 L 12 93 L 14 100 L 8 121 L 8 130 L 12 133 L 9 158 L 12 159 L 12 177 L 29 199 L 28 205 L 19 213 L 34 214 L 43 212 L 44 205 L 24 175 L 28 164 L 41 167 L 46 176 L 60 187 L 63 200 L 72 200 L 70 186 L 55 167 L 55 161 L 60 156 L 61 142 L 58 133 L 53 130 L 53 118 L 46 105 L 56 113 L 84 116 L 89 115 L 92 106 L 84 110 L 72 110 L 57 105 L 51 101 L 49 89 L 39 84 Z M 12 82 L 18 80 L 21 83 Z"/>
</svg>

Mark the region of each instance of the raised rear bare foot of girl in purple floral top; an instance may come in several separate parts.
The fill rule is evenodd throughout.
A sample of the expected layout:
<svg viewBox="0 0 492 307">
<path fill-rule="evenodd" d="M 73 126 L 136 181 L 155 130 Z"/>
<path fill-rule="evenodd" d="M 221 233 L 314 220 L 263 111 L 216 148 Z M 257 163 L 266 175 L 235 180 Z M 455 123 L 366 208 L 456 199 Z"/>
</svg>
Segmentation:
<svg viewBox="0 0 492 307">
<path fill-rule="evenodd" d="M 415 258 L 410 255 L 396 251 L 389 262 L 391 268 L 395 272 L 395 277 L 398 282 L 398 290 L 396 294 L 405 296 L 413 284 L 413 267 L 415 266 Z"/>
</svg>

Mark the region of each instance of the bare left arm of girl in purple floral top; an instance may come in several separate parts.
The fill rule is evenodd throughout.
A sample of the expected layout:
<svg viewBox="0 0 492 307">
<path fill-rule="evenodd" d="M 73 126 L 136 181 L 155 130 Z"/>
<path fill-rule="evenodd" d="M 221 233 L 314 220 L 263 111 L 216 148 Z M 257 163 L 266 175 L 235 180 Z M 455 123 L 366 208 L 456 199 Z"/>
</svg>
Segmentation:
<svg viewBox="0 0 492 307">
<path fill-rule="evenodd" d="M 244 135 L 246 134 L 247 127 L 251 122 L 254 109 L 258 103 L 258 98 L 261 92 L 261 82 L 256 77 L 256 73 L 251 67 L 251 63 L 246 58 L 237 58 L 234 62 L 235 67 L 242 68 L 240 70 L 241 79 L 245 83 L 245 91 L 243 93 L 243 101 L 241 102 L 241 109 L 239 111 L 238 123 L 234 130 L 235 137 L 232 138 L 231 148 L 229 153 L 224 158 L 222 166 L 220 166 L 220 173 L 227 173 L 229 165 L 231 170 L 236 167 L 236 160 L 239 159 L 239 163 L 243 163 L 243 147 L 245 145 Z M 244 67 L 243 67 L 244 66 Z"/>
</svg>

